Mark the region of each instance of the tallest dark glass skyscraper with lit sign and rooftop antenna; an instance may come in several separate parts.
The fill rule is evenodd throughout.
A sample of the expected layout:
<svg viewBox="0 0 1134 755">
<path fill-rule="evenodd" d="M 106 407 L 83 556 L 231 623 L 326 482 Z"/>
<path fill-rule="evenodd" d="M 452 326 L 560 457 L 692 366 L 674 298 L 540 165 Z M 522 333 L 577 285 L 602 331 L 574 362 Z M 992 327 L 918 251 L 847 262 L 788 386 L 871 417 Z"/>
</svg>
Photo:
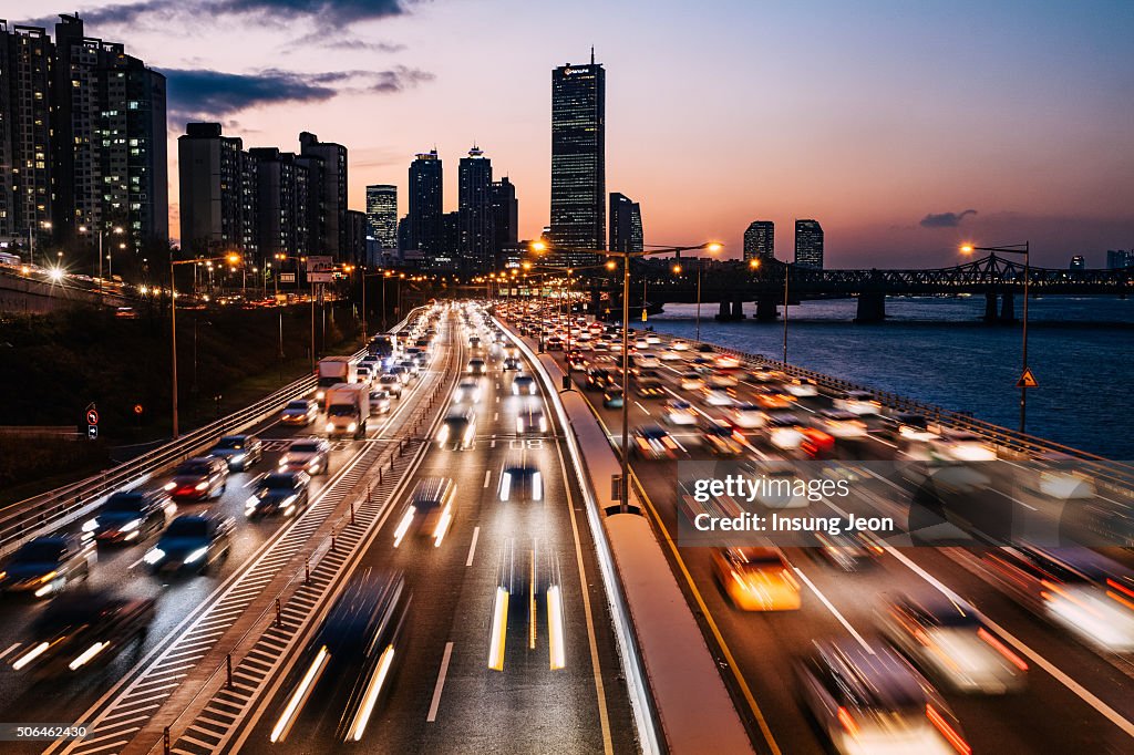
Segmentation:
<svg viewBox="0 0 1134 755">
<path fill-rule="evenodd" d="M 606 70 L 590 65 L 551 71 L 551 232 L 556 246 L 603 249 L 607 240 Z M 566 253 L 561 264 L 594 262 Z"/>
</svg>

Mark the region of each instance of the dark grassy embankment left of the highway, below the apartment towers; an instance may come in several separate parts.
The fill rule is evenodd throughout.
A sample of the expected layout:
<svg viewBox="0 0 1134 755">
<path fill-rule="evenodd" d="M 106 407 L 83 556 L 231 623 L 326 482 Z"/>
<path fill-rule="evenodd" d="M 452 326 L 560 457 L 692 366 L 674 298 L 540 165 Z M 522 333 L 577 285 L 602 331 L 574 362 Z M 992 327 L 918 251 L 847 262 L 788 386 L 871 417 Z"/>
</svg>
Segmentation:
<svg viewBox="0 0 1134 755">
<path fill-rule="evenodd" d="M 90 404 L 99 410 L 98 441 L 0 435 L 0 504 L 67 484 L 132 456 L 128 447 L 171 435 L 169 313 L 74 308 L 43 316 L 0 319 L 0 425 L 70 425 L 86 431 Z M 319 354 L 358 348 L 348 305 L 316 314 Z M 180 431 L 247 406 L 310 371 L 311 312 L 208 309 L 177 313 Z M 218 397 L 220 397 L 218 399 Z M 142 413 L 135 414 L 134 407 Z"/>
</svg>

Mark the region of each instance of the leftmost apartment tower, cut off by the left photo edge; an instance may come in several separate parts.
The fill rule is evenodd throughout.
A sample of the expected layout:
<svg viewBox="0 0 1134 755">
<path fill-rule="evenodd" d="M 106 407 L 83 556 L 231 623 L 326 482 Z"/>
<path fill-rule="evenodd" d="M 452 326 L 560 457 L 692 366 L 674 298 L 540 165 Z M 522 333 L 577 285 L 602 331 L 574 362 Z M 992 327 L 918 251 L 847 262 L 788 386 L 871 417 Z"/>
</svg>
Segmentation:
<svg viewBox="0 0 1134 755">
<path fill-rule="evenodd" d="M 50 235 L 53 52 L 45 29 L 0 20 L 0 238 Z"/>
</svg>

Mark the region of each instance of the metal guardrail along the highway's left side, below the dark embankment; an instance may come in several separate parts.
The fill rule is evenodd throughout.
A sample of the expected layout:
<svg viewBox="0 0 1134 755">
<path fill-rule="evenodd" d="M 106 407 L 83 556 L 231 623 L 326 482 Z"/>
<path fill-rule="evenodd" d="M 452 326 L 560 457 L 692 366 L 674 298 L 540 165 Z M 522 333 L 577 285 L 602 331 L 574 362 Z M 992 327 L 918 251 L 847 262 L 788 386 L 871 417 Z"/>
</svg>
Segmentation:
<svg viewBox="0 0 1134 755">
<path fill-rule="evenodd" d="M 412 309 L 389 332 L 400 331 L 423 308 Z M 363 348 L 352 356 L 357 359 L 365 353 L 366 349 Z M 145 483 L 162 469 L 167 469 L 211 446 L 221 435 L 239 432 L 266 419 L 279 412 L 287 401 L 310 393 L 314 390 L 316 382 L 314 375 L 301 378 L 252 406 L 203 427 L 197 427 L 175 441 L 111 467 L 99 475 L 6 507 L 0 511 L 0 555 L 9 553 L 40 532 L 69 524 L 101 503 L 110 493 Z"/>
</svg>

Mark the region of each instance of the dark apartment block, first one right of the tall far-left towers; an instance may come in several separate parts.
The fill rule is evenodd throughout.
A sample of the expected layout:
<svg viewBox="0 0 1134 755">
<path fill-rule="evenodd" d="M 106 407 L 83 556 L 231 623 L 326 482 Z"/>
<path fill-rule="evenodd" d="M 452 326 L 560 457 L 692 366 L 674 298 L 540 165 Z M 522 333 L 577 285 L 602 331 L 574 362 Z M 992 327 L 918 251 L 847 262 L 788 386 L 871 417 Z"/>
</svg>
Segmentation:
<svg viewBox="0 0 1134 755">
<path fill-rule="evenodd" d="M 237 249 L 260 260 L 256 159 L 220 124 L 187 124 L 177 139 L 181 249 L 193 255 Z"/>
</svg>

